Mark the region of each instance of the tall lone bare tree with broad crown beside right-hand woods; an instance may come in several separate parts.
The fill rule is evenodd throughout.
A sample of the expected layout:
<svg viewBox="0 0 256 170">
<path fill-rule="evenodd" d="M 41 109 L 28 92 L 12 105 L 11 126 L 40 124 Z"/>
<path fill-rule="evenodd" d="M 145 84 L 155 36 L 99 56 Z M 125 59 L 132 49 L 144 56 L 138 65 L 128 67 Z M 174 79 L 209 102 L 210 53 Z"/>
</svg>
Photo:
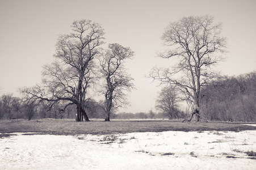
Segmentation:
<svg viewBox="0 0 256 170">
<path fill-rule="evenodd" d="M 221 23 L 213 23 L 213 16 L 188 16 L 170 23 L 161 39 L 170 46 L 160 53 L 162 58 L 177 57 L 172 69 L 154 67 L 150 77 L 161 84 L 175 84 L 192 101 L 192 116 L 200 121 L 200 88 L 215 77 L 211 66 L 222 61 L 219 53 L 226 52 L 226 37 L 221 36 Z M 191 100 L 192 99 L 192 100 Z"/>
</svg>

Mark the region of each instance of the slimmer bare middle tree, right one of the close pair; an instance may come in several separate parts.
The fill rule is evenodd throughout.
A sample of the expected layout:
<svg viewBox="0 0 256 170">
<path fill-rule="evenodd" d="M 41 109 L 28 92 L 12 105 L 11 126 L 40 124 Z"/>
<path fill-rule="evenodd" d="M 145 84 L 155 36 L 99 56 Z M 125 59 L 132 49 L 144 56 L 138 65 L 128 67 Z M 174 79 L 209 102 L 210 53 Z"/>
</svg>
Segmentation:
<svg viewBox="0 0 256 170">
<path fill-rule="evenodd" d="M 133 56 L 130 48 L 124 48 L 119 44 L 110 44 L 99 56 L 100 73 L 104 78 L 104 110 L 105 121 L 110 121 L 112 108 L 123 107 L 127 104 L 123 91 L 133 88 L 133 79 L 126 73 L 123 62 Z"/>
</svg>

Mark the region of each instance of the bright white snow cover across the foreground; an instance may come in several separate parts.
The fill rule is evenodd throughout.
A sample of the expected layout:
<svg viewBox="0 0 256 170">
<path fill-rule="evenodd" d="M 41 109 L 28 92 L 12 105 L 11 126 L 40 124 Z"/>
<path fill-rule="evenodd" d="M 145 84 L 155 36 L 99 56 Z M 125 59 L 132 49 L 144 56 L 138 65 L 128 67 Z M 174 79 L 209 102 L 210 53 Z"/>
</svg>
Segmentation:
<svg viewBox="0 0 256 170">
<path fill-rule="evenodd" d="M 256 151 L 255 130 L 12 133 L 0 138 L 0 169 L 255 169 L 246 151 Z"/>
</svg>

